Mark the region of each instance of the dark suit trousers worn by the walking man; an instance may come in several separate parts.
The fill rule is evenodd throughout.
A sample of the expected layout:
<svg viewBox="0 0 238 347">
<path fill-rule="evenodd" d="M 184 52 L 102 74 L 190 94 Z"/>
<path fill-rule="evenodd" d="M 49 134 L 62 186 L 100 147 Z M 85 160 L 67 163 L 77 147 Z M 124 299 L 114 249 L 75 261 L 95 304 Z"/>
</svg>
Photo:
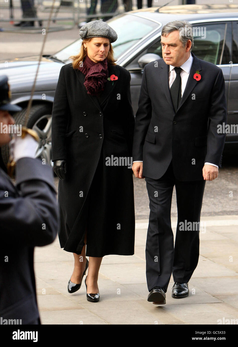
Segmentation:
<svg viewBox="0 0 238 347">
<path fill-rule="evenodd" d="M 177 181 L 172 161 L 160 179 L 145 178 L 150 199 L 146 239 L 146 280 L 148 290 L 155 286 L 167 291 L 171 274 L 178 283 L 187 283 L 199 256 L 199 223 L 205 181 Z M 176 188 L 178 222 L 175 246 L 171 228 L 171 201 Z M 191 229 L 192 223 L 192 230 Z"/>
</svg>

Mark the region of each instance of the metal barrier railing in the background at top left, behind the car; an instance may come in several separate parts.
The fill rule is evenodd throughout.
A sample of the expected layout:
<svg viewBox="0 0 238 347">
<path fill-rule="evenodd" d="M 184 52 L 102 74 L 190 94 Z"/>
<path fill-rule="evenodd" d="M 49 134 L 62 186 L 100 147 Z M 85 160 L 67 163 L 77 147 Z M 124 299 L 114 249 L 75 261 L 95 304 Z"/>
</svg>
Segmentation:
<svg viewBox="0 0 238 347">
<path fill-rule="evenodd" d="M 14 32 L 41 31 L 52 3 L 52 0 L 0 0 L 0 28 Z M 125 9 L 132 9 L 132 0 L 57 0 L 50 31 L 80 27 L 80 23 L 99 18 L 107 20 Z M 24 22 L 24 25 L 16 26 L 16 22 Z"/>
</svg>

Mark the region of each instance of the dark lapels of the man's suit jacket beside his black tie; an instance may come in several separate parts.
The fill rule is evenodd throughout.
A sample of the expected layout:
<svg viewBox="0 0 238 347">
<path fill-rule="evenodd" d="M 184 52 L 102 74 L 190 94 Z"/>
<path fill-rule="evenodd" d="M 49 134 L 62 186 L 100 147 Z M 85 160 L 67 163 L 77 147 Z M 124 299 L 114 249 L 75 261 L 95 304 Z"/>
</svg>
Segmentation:
<svg viewBox="0 0 238 347">
<path fill-rule="evenodd" d="M 199 63 L 199 60 L 197 59 L 197 57 L 195 57 L 195 55 L 191 52 L 192 56 L 193 56 L 193 64 L 191 66 L 191 70 L 188 76 L 188 81 L 185 87 L 185 91 L 182 94 L 182 99 L 180 100 L 180 103 L 178 105 L 178 110 L 179 108 L 182 106 L 182 104 L 185 102 L 185 100 L 188 98 L 189 94 L 192 92 L 193 88 L 195 87 L 197 81 L 196 79 L 193 78 L 193 75 L 196 73 L 196 71 L 201 71 L 201 65 Z M 170 89 L 169 89 L 169 65 L 165 64 L 164 61 L 162 61 L 161 64 L 161 70 L 159 73 L 160 79 L 161 79 L 161 84 L 163 86 L 163 90 L 165 93 L 165 96 L 172 108 L 173 109 L 173 102 L 172 102 L 172 98 L 171 98 L 171 94 L 170 94 Z M 177 110 L 177 111 L 178 111 Z"/>
</svg>

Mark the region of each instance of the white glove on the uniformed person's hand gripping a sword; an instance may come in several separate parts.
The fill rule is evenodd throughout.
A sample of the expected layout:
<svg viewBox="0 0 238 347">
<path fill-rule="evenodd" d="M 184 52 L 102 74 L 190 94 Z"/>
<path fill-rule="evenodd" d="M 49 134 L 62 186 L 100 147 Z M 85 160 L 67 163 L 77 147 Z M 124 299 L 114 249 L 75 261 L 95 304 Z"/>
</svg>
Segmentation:
<svg viewBox="0 0 238 347">
<path fill-rule="evenodd" d="M 39 143 L 29 134 L 24 138 L 13 134 L 9 143 L 10 155 L 15 162 L 20 158 L 35 158 L 38 147 Z"/>
</svg>

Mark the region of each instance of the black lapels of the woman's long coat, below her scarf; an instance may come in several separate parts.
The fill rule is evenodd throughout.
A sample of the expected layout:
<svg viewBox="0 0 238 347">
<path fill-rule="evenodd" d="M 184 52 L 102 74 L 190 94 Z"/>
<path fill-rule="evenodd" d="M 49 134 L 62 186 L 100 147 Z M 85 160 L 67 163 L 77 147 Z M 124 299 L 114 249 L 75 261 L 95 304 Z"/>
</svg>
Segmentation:
<svg viewBox="0 0 238 347">
<path fill-rule="evenodd" d="M 83 88 L 85 89 L 85 92 L 87 93 L 87 90 L 86 90 L 86 88 L 84 86 L 85 75 L 81 71 L 79 71 L 77 69 L 75 69 L 75 73 L 76 73 L 79 81 L 82 83 Z M 110 77 L 111 75 L 115 75 L 115 76 L 117 76 L 119 78 L 119 69 L 118 69 L 118 67 L 116 65 L 108 65 L 108 77 Z M 102 109 L 104 108 L 103 104 L 109 98 L 109 95 L 113 91 L 115 85 L 117 84 L 117 81 L 118 80 L 107 81 L 106 82 L 105 88 L 104 88 L 104 90 L 101 92 L 101 94 L 99 96 L 99 100 L 97 99 L 96 95 L 87 94 L 100 111 L 102 111 Z"/>
</svg>

